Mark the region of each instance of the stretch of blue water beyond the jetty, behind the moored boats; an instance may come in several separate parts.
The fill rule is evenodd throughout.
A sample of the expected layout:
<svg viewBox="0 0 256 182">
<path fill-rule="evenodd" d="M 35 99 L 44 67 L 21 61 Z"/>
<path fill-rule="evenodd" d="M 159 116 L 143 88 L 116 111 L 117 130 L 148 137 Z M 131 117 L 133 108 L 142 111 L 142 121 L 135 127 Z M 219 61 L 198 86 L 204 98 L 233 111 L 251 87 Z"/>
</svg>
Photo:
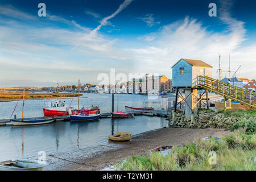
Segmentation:
<svg viewBox="0 0 256 182">
<path fill-rule="evenodd" d="M 82 93 L 80 98 L 80 108 L 82 106 L 100 106 L 101 113 L 110 113 L 112 110 L 112 94 L 93 94 L 93 93 Z M 125 111 L 125 106 L 133 107 L 154 107 L 154 109 L 160 109 L 162 104 L 162 98 L 158 96 L 143 96 L 137 94 L 119 94 L 119 111 Z M 148 99 L 150 98 L 150 99 Z M 156 98 L 156 99 L 155 99 Z M 66 106 L 78 107 L 78 99 L 62 99 L 66 102 Z M 46 106 L 47 102 L 54 100 L 26 100 L 24 105 L 24 117 L 43 117 L 43 107 Z M 146 101 L 146 104 L 144 104 Z M 115 111 L 117 111 L 117 94 L 115 94 Z M 17 101 L 13 102 L 0 102 L 0 119 L 9 119 L 11 113 L 13 113 L 14 107 Z M 22 118 L 22 100 L 18 102 L 18 105 L 14 112 L 17 115 L 17 118 Z"/>
</svg>

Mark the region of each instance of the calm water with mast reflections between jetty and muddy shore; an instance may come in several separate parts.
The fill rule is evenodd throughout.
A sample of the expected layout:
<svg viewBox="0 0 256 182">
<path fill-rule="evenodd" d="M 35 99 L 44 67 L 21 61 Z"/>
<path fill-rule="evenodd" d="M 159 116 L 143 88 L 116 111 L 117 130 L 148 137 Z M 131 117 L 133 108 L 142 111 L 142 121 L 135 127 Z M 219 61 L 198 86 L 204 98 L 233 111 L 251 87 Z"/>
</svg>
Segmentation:
<svg viewBox="0 0 256 182">
<path fill-rule="evenodd" d="M 166 126 L 166 118 L 102 118 L 89 122 L 55 122 L 41 126 L 0 127 L 0 161 L 84 148 L 108 142 L 108 135 L 127 131 L 133 135 Z M 21 146 L 20 146 L 21 144 Z"/>
</svg>

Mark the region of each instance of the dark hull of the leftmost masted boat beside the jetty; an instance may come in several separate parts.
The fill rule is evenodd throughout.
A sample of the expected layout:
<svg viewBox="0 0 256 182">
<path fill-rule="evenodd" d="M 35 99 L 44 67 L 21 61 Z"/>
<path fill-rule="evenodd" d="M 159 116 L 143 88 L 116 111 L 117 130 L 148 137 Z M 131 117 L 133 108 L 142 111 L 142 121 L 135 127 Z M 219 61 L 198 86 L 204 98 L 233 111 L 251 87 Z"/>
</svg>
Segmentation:
<svg viewBox="0 0 256 182">
<path fill-rule="evenodd" d="M 54 118 L 36 118 L 36 119 L 10 119 L 14 126 L 24 125 L 44 125 L 53 122 Z"/>
</svg>

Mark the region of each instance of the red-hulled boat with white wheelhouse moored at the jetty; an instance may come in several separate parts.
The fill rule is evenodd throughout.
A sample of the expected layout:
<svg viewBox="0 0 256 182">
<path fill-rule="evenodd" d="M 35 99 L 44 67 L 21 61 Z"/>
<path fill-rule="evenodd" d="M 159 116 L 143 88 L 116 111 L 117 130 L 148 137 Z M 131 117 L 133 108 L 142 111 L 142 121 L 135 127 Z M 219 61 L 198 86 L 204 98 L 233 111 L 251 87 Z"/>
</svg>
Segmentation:
<svg viewBox="0 0 256 182">
<path fill-rule="evenodd" d="M 54 116 L 63 116 L 63 115 L 73 115 L 79 112 L 96 114 L 100 112 L 99 107 L 90 106 L 89 108 L 82 107 L 80 109 L 75 109 L 73 107 L 66 107 L 65 101 L 53 101 L 48 107 L 43 108 L 44 117 L 54 117 Z"/>
</svg>

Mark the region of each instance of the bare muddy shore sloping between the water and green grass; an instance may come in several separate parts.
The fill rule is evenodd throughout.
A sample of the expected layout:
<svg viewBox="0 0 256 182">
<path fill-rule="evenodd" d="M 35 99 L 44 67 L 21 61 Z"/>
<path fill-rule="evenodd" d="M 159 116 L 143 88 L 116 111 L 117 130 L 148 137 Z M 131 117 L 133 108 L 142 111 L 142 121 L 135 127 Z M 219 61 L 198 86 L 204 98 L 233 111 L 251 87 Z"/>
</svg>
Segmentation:
<svg viewBox="0 0 256 182">
<path fill-rule="evenodd" d="M 46 171 L 90 171 L 121 162 L 131 156 L 148 155 L 150 150 L 160 146 L 177 146 L 197 138 L 223 137 L 229 135 L 224 129 L 160 128 L 134 135 L 128 142 L 109 142 L 97 146 L 76 148 L 46 156 Z M 108 137 L 108 136 L 106 136 Z M 38 159 L 38 157 L 29 158 Z"/>
</svg>

